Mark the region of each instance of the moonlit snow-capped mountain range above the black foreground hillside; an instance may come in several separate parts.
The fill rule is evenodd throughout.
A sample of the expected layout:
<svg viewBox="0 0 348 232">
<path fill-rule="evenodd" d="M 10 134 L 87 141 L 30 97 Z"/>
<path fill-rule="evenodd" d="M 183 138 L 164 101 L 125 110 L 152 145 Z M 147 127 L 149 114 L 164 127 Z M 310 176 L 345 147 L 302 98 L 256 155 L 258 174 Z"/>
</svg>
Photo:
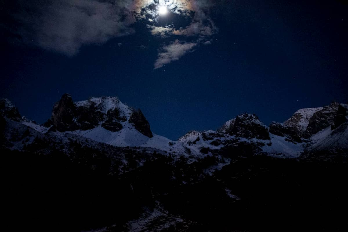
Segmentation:
<svg viewBox="0 0 348 232">
<path fill-rule="evenodd" d="M 21 117 L 17 107 L 8 99 L 2 99 L 0 106 L 7 124 L 19 122 L 42 136 L 69 135 L 116 147 L 158 149 L 174 156 L 183 155 L 191 161 L 207 154 L 220 155 L 231 147 L 245 144 L 252 146 L 255 154 L 280 157 L 299 157 L 312 150 L 333 152 L 347 149 L 348 106 L 339 103 L 300 109 L 284 123 L 271 122 L 269 127 L 255 114 L 243 113 L 224 123 L 217 131 L 193 130 L 177 141 L 153 134 L 141 110 L 127 106 L 117 97 L 92 97 L 73 102 L 71 95 L 64 94 L 44 125 Z M 18 146 L 13 149 L 18 149 Z"/>
</svg>

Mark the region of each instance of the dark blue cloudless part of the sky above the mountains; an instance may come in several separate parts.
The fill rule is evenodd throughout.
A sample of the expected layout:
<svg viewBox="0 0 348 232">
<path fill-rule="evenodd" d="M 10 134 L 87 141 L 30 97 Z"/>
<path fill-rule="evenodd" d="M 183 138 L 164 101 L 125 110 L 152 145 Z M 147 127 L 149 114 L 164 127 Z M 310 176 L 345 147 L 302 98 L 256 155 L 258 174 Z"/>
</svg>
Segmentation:
<svg viewBox="0 0 348 232">
<path fill-rule="evenodd" d="M 173 38 L 153 36 L 144 21 L 130 25 L 134 34 L 83 45 L 71 56 L 18 42 L 11 7 L 1 6 L 0 97 L 40 123 L 63 93 L 74 101 L 118 96 L 171 139 L 215 130 L 243 112 L 268 125 L 300 108 L 348 101 L 348 6 L 339 1 L 219 1 L 206 10 L 218 29 L 211 45 L 155 70 L 160 47 Z M 162 17 L 162 25 L 187 23 Z"/>
</svg>

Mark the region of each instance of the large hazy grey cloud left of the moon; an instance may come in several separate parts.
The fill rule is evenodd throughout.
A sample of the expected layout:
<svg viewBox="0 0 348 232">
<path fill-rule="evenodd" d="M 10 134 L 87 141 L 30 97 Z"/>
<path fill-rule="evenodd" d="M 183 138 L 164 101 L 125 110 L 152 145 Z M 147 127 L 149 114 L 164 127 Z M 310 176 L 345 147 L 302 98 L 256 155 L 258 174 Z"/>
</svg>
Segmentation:
<svg viewBox="0 0 348 232">
<path fill-rule="evenodd" d="M 83 45 L 102 44 L 134 33 L 135 18 L 122 8 L 125 2 L 19 0 L 12 14 L 19 26 L 15 33 L 26 43 L 72 56 Z"/>
</svg>

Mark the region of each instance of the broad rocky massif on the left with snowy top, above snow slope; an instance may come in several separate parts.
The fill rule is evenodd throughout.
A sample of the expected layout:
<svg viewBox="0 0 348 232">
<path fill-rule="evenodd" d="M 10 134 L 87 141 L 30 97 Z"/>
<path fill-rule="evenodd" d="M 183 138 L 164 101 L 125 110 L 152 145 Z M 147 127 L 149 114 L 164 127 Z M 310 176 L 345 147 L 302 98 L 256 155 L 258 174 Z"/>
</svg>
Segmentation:
<svg viewBox="0 0 348 232">
<path fill-rule="evenodd" d="M 142 134 L 152 137 L 149 122 L 140 110 L 121 103 L 116 97 L 90 98 L 87 101 L 73 102 L 70 94 L 64 94 L 52 110 L 52 117 L 45 123 L 51 130 L 74 131 L 89 130 L 101 126 L 115 132 L 122 129 L 122 122 L 134 124 Z"/>
</svg>

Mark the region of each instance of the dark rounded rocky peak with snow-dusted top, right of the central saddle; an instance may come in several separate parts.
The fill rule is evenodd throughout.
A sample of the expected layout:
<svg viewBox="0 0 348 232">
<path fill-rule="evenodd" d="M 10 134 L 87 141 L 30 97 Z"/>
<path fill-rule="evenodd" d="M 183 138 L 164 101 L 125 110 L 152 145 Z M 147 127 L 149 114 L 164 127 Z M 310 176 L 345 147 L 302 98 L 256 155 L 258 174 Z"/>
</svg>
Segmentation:
<svg viewBox="0 0 348 232">
<path fill-rule="evenodd" d="M 255 114 L 240 114 L 227 121 L 218 131 L 242 138 L 270 139 L 268 129 Z"/>
</svg>

